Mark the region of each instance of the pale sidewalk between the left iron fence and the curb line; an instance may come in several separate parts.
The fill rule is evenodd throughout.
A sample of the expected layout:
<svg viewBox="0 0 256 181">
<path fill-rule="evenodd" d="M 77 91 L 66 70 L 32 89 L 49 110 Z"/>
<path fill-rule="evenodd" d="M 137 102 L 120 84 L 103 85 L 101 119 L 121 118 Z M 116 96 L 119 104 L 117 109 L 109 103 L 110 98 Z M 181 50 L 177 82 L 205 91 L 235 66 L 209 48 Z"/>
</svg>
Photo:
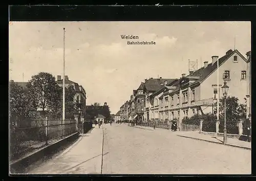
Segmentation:
<svg viewBox="0 0 256 181">
<path fill-rule="evenodd" d="M 29 174 L 100 174 L 102 127 L 95 127 L 63 152 L 31 169 Z"/>
</svg>

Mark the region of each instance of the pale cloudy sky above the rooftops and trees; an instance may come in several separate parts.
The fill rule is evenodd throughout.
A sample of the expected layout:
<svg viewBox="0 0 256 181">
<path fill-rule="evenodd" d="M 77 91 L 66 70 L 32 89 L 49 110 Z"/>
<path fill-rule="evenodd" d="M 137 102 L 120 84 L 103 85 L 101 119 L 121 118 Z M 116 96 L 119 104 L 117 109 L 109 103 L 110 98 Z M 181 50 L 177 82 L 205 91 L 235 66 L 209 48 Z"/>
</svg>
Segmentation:
<svg viewBox="0 0 256 181">
<path fill-rule="evenodd" d="M 144 79 L 180 78 L 188 59 L 199 69 L 234 46 L 245 57 L 251 50 L 250 21 L 15 21 L 10 80 L 29 81 L 39 72 L 62 77 L 64 27 L 66 75 L 86 90 L 87 105 L 107 102 L 112 114 Z M 129 45 L 121 35 L 156 44 Z"/>
</svg>

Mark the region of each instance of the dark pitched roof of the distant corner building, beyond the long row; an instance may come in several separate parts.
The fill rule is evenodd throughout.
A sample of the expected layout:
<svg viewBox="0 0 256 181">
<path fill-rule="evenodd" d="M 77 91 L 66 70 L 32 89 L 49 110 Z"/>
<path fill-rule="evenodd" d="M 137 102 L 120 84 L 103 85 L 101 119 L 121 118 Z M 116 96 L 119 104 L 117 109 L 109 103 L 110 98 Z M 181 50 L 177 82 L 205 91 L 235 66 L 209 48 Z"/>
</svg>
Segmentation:
<svg viewBox="0 0 256 181">
<path fill-rule="evenodd" d="M 161 87 L 163 87 L 164 85 L 161 85 L 161 83 L 164 84 L 165 81 L 167 81 L 167 84 L 169 84 L 170 82 L 173 82 L 176 79 L 148 79 L 145 82 L 145 89 L 149 92 L 156 92 L 158 89 L 160 89 Z"/>
</svg>

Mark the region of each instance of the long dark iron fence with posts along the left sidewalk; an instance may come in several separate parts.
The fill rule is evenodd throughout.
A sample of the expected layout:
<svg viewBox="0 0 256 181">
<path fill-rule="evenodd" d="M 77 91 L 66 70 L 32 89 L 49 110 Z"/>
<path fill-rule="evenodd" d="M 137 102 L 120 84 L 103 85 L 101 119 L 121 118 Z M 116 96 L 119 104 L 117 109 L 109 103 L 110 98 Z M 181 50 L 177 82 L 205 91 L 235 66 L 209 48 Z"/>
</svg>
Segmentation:
<svg viewBox="0 0 256 181">
<path fill-rule="evenodd" d="M 76 132 L 75 120 L 34 120 L 27 128 L 10 130 L 11 160 Z"/>
</svg>

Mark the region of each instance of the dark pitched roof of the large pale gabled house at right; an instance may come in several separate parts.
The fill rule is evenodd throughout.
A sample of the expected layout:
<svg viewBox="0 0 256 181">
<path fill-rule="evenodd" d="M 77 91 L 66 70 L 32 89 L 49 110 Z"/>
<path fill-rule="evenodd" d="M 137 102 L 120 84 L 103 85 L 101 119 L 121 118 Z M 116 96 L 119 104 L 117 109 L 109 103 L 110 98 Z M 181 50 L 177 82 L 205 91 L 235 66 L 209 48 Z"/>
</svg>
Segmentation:
<svg viewBox="0 0 256 181">
<path fill-rule="evenodd" d="M 229 52 L 229 53 L 228 53 Z M 238 50 L 234 50 L 234 51 L 228 51 L 226 55 L 224 55 L 223 57 L 219 58 L 219 66 L 221 66 L 222 63 L 224 63 L 231 55 L 233 55 L 235 52 L 237 52 L 238 54 L 240 54 L 240 56 L 245 60 L 244 56 L 238 51 Z M 199 76 L 200 78 L 197 79 L 192 85 L 196 84 L 196 83 L 201 83 L 204 79 L 206 79 L 212 72 L 214 72 L 215 70 L 217 70 L 217 64 L 218 62 L 216 61 L 214 64 L 209 63 L 208 66 L 204 69 L 204 67 L 201 67 L 201 69 L 199 69 L 198 71 L 192 73 L 190 76 Z"/>
</svg>

